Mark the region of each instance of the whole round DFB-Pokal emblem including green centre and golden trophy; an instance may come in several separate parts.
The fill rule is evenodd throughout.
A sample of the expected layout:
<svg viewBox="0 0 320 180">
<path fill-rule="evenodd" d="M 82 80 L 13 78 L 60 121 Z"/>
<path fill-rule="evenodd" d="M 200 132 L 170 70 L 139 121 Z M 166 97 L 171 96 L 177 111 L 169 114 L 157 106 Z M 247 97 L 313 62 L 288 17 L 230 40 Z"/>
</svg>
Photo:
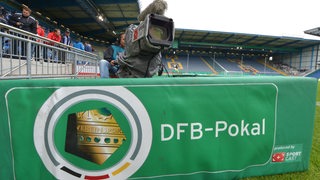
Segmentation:
<svg viewBox="0 0 320 180">
<path fill-rule="evenodd" d="M 152 128 L 124 87 L 62 87 L 38 111 L 34 144 L 57 179 L 126 179 L 146 160 Z"/>
</svg>

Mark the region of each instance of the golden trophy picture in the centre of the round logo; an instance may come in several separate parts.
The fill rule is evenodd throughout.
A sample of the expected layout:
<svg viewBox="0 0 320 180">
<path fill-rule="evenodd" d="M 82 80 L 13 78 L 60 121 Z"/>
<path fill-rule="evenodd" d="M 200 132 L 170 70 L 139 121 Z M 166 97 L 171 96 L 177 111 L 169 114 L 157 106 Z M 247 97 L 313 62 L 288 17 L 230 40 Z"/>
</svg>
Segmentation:
<svg viewBox="0 0 320 180">
<path fill-rule="evenodd" d="M 69 114 L 65 151 L 103 164 L 126 140 L 107 108 Z"/>
</svg>

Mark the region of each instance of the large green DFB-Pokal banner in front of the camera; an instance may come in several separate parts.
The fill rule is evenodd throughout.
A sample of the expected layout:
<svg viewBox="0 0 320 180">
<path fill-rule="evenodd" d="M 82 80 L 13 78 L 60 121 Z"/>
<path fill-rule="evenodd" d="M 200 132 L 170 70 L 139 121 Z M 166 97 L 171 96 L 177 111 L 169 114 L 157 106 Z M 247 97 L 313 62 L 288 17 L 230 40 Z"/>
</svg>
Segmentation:
<svg viewBox="0 0 320 180">
<path fill-rule="evenodd" d="M 1 179 L 235 178 L 308 167 L 309 78 L 28 82 L 3 84 Z M 292 101 L 293 116 L 284 112 Z M 295 130 L 311 133 L 288 138 Z"/>
</svg>

